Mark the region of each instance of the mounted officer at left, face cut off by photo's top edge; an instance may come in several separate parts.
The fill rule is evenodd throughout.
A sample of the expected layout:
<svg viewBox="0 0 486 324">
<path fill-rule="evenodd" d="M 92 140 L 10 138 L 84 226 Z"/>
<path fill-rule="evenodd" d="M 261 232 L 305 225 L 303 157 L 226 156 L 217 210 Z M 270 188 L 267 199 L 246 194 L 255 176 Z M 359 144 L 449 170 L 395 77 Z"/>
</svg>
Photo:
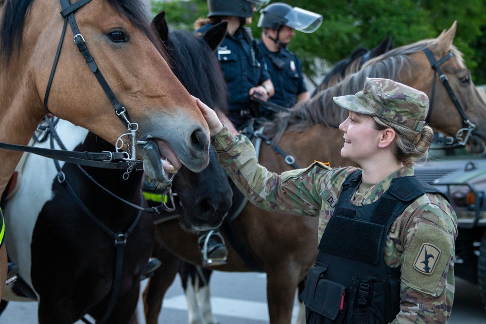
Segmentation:
<svg viewBox="0 0 486 324">
<path fill-rule="evenodd" d="M 196 30 L 206 33 L 213 25 L 227 22 L 226 36 L 216 51 L 228 89 L 228 118 L 221 116 L 225 125 L 236 135 L 259 112 L 252 96 L 266 101 L 274 94 L 270 75 L 260 64 L 249 28 L 253 13 L 269 0 L 208 0 L 209 21 Z M 227 248 L 218 230 L 199 233 L 199 247 L 203 265 L 226 263 Z"/>
</svg>

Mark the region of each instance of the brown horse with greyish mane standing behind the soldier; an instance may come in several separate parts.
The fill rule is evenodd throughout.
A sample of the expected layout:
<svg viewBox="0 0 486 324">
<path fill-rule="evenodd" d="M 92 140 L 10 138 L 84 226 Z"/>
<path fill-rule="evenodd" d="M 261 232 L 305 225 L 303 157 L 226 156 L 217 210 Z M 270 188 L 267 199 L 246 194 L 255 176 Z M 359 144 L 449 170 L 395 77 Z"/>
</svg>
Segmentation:
<svg viewBox="0 0 486 324">
<path fill-rule="evenodd" d="M 363 88 L 365 77 L 383 77 L 427 93 L 431 102 L 433 100 L 428 122 L 435 130 L 455 136 L 458 130 L 464 128 L 463 118 L 445 87 L 438 78 L 434 78 L 435 72 L 423 51 L 429 49 L 436 60 L 452 53 L 440 68 L 448 77 L 451 89 L 469 122 L 476 125 L 471 135 L 474 143 L 469 145 L 469 149 L 484 149 L 482 142 L 486 139 L 486 104 L 471 81 L 461 53 L 452 45 L 455 30 L 454 23 L 449 31 L 436 39 L 403 46 L 370 60 L 362 70 L 338 85 L 319 93 L 309 102 L 298 104 L 288 113 L 280 113 L 267 125 L 267 135 L 278 141 L 286 153 L 295 156 L 297 164 L 302 167 L 313 160 L 330 161 L 332 166 L 349 165 L 351 162 L 340 155 L 343 135 L 337 128 L 346 116 L 344 109 L 333 103 L 332 97 L 358 92 Z M 280 173 L 291 169 L 270 146 L 261 147 L 259 161 L 270 171 Z M 249 254 L 267 273 L 270 322 L 290 323 L 295 288 L 317 255 L 318 219 L 271 213 L 247 204 L 233 223 Z M 181 231 L 177 222 L 158 225 L 156 239 L 181 258 L 196 265 L 201 264 L 196 237 Z M 227 237 L 225 239 L 228 241 Z M 147 323 L 156 323 L 163 294 L 172 283 L 179 264 L 178 259 L 167 251 L 161 249 L 158 253 L 156 255 L 164 260 L 165 267 L 156 272 L 145 291 Z M 226 265 L 214 269 L 238 272 L 252 270 L 232 246 L 229 247 L 227 261 Z"/>
</svg>

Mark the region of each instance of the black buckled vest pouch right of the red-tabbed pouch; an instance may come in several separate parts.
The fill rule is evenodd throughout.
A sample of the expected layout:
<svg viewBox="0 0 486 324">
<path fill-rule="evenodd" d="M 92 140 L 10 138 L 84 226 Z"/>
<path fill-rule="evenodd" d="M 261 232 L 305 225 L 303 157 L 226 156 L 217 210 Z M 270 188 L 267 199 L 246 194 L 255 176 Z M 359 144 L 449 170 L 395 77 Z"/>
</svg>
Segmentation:
<svg viewBox="0 0 486 324">
<path fill-rule="evenodd" d="M 374 278 L 360 280 L 353 278 L 350 294 L 351 321 L 357 324 L 386 324 L 385 283 Z M 388 284 L 388 282 L 386 282 Z M 397 315 L 397 313 L 395 313 Z"/>
</svg>

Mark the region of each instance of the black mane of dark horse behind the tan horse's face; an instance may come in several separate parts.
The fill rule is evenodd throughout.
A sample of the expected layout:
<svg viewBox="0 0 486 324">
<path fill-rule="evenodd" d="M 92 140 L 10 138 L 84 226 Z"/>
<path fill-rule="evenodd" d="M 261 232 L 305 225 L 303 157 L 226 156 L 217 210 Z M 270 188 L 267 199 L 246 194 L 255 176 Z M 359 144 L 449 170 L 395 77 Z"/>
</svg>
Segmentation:
<svg viewBox="0 0 486 324">
<path fill-rule="evenodd" d="M 225 79 L 216 55 L 204 38 L 185 31 L 172 31 L 167 41 L 167 51 L 174 74 L 189 93 L 225 114 Z"/>
</svg>

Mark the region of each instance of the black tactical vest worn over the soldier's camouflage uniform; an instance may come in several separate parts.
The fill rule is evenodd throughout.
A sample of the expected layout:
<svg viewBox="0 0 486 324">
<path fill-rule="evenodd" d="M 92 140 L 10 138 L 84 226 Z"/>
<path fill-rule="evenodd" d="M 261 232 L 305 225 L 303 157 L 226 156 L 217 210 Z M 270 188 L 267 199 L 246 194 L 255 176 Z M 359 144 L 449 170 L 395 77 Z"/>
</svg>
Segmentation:
<svg viewBox="0 0 486 324">
<path fill-rule="evenodd" d="M 395 178 L 373 204 L 355 206 L 351 196 L 361 183 L 351 174 L 319 244 L 317 260 L 299 298 L 306 323 L 386 324 L 399 313 L 400 268 L 384 262 L 393 221 L 418 197 L 438 193 L 415 176 Z"/>
</svg>

